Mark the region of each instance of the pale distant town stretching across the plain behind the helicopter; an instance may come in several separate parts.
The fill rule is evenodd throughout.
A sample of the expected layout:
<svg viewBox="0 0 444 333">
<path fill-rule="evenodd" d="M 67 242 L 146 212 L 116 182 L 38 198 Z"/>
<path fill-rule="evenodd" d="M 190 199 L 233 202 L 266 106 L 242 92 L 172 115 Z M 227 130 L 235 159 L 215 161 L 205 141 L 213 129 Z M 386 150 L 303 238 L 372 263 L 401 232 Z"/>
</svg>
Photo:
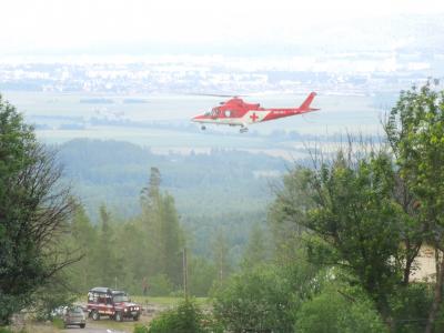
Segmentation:
<svg viewBox="0 0 444 333">
<path fill-rule="evenodd" d="M 444 72 L 444 53 L 374 51 L 286 58 L 152 56 L 0 61 L 0 91 L 118 94 L 398 92 Z M 128 101 L 131 102 L 131 101 Z"/>
</svg>

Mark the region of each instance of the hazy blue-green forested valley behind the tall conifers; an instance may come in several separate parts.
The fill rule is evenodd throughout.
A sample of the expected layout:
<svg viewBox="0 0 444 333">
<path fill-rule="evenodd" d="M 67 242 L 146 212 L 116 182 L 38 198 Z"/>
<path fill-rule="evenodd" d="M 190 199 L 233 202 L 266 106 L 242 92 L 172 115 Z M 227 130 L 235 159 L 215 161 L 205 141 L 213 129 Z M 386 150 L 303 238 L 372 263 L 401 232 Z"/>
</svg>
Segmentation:
<svg viewBox="0 0 444 333">
<path fill-rule="evenodd" d="M 265 223 L 273 188 L 292 162 L 263 153 L 214 149 L 208 153 L 167 155 L 128 142 L 79 139 L 54 147 L 64 178 L 93 224 L 99 206 L 114 220 L 142 211 L 139 195 L 150 169 L 161 173 L 161 188 L 174 198 L 182 228 L 193 250 L 211 253 L 212 235 L 226 233 L 230 251 L 240 258 L 251 226 Z"/>
</svg>

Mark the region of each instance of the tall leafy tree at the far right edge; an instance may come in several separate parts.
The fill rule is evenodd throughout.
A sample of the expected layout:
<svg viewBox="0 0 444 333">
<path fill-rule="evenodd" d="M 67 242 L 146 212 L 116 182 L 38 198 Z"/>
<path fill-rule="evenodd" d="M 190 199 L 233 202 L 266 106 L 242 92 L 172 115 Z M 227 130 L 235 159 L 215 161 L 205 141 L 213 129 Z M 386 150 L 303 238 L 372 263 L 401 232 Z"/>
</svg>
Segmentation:
<svg viewBox="0 0 444 333">
<path fill-rule="evenodd" d="M 421 89 L 403 91 L 385 130 L 400 176 L 413 193 L 418 219 L 428 232 L 426 242 L 435 248 L 435 295 L 426 327 L 431 332 L 444 284 L 444 91 L 433 89 L 430 81 Z"/>
</svg>

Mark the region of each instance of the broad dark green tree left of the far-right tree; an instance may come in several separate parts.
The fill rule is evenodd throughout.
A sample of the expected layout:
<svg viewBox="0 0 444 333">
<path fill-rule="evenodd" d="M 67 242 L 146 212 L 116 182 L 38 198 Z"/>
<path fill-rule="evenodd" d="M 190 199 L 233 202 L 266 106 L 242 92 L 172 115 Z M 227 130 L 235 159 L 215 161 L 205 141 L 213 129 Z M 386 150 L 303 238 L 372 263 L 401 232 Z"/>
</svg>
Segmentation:
<svg viewBox="0 0 444 333">
<path fill-rule="evenodd" d="M 292 189 L 281 192 L 278 205 L 285 219 L 310 231 L 310 258 L 347 270 L 351 282 L 360 283 L 390 323 L 389 297 L 402 283 L 405 269 L 405 219 L 394 200 L 391 155 L 370 152 L 354 158 L 352 151 L 340 151 L 330 164 L 295 175 L 304 179 L 311 206 L 304 211 L 295 205 Z"/>
</svg>

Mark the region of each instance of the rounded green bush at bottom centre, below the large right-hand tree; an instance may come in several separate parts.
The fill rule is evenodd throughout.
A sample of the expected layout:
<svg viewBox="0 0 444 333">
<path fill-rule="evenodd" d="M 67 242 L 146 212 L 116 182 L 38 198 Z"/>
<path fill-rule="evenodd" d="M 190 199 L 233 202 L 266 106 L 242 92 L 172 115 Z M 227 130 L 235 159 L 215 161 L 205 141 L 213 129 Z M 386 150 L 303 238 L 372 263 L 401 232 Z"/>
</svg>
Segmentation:
<svg viewBox="0 0 444 333">
<path fill-rule="evenodd" d="M 234 275 L 214 300 L 214 316 L 230 332 L 292 332 L 292 283 L 271 265 Z"/>
</svg>

